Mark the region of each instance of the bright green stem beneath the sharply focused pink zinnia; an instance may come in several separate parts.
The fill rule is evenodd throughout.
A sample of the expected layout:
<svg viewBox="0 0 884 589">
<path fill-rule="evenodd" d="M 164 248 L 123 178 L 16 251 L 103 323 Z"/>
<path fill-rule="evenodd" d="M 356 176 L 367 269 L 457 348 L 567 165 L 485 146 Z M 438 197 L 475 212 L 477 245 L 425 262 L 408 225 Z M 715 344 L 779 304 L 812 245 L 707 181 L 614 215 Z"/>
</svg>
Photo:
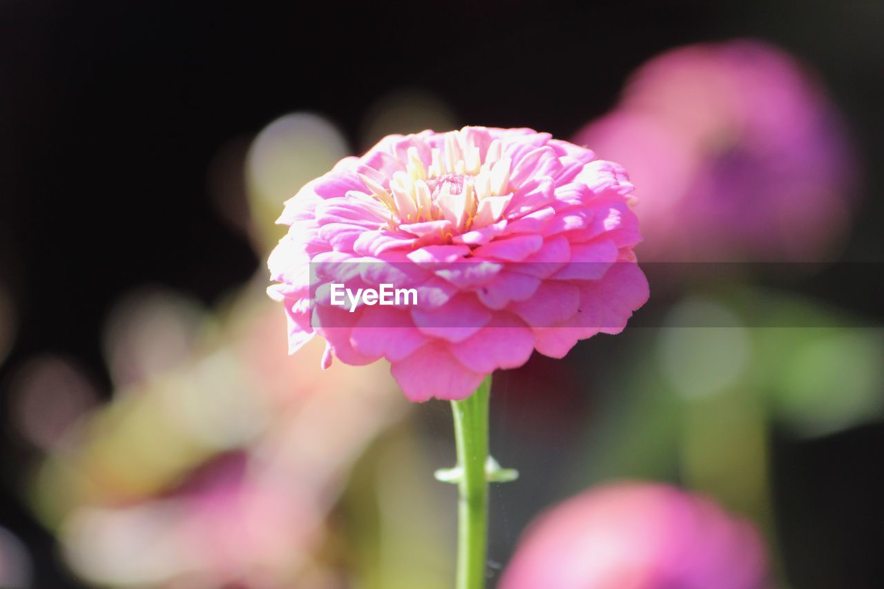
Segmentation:
<svg viewBox="0 0 884 589">
<path fill-rule="evenodd" d="M 484 589 L 485 551 L 488 539 L 488 402 L 492 377 L 476 393 L 451 402 L 460 500 L 457 510 L 457 589 Z"/>
</svg>

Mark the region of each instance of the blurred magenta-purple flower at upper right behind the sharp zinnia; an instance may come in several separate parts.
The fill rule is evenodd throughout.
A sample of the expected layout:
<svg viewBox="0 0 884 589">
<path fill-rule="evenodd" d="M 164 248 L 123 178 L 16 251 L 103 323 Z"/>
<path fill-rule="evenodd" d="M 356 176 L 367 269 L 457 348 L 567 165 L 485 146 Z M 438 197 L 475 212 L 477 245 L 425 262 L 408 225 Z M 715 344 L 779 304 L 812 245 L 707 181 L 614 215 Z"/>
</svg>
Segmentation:
<svg viewBox="0 0 884 589">
<path fill-rule="evenodd" d="M 762 42 L 653 58 L 575 142 L 647 190 L 644 259 L 820 261 L 847 226 L 855 171 L 838 114 Z"/>
</svg>

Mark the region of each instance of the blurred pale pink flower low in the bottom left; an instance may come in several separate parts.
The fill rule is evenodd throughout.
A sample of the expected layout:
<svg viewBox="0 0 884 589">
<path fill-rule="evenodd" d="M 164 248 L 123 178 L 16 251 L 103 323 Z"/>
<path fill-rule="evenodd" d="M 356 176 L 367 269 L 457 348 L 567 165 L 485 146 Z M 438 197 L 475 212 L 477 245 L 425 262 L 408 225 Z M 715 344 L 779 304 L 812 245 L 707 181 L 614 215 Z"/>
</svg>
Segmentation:
<svg viewBox="0 0 884 589">
<path fill-rule="evenodd" d="M 149 501 L 81 506 L 63 530 L 68 562 L 102 584 L 282 586 L 321 544 L 324 511 L 250 466 L 219 456 Z"/>
</svg>

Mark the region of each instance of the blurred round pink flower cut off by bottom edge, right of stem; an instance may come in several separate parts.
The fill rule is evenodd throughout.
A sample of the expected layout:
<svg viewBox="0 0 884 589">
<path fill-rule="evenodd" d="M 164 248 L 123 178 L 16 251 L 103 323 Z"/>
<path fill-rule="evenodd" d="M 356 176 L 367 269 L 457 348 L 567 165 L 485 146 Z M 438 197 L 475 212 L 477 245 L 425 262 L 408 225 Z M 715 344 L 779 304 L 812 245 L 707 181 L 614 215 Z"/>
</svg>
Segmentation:
<svg viewBox="0 0 884 589">
<path fill-rule="evenodd" d="M 712 501 L 621 483 L 561 503 L 525 533 L 500 589 L 759 589 L 758 532 Z"/>
</svg>

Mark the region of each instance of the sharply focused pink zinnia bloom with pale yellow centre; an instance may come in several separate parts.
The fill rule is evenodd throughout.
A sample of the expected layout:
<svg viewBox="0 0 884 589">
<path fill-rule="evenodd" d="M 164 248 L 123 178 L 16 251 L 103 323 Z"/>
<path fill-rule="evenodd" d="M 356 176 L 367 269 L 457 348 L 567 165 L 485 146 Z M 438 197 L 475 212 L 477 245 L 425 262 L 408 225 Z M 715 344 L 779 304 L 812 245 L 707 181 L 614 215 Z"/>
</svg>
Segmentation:
<svg viewBox="0 0 884 589">
<path fill-rule="evenodd" d="M 530 129 L 391 135 L 286 203 L 269 260 L 289 348 L 392 363 L 412 401 L 462 399 L 537 349 L 619 333 L 648 298 L 623 169 Z M 331 282 L 414 287 L 417 304 L 335 306 Z"/>
</svg>

